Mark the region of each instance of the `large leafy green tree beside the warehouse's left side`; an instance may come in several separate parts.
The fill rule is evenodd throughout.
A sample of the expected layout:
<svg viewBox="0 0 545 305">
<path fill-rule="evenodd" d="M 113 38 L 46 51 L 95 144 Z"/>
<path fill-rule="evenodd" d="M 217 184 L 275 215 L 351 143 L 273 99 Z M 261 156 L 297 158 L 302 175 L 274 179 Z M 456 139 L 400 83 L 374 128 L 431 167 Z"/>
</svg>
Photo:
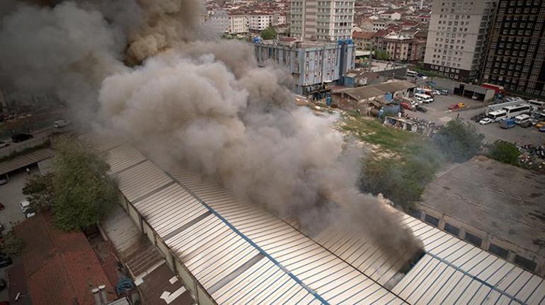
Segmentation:
<svg viewBox="0 0 545 305">
<path fill-rule="evenodd" d="M 72 231 L 99 221 L 117 200 L 110 166 L 91 149 L 76 142 L 59 142 L 53 177 L 52 212 L 57 225 Z"/>
</svg>

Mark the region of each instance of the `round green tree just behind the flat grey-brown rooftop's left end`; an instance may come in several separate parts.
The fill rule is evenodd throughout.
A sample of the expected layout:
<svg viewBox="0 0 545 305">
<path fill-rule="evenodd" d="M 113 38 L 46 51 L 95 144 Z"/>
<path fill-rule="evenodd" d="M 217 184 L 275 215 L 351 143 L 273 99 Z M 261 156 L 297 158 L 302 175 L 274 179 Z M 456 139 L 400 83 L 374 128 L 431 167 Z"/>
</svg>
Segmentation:
<svg viewBox="0 0 545 305">
<path fill-rule="evenodd" d="M 433 143 L 450 161 L 463 162 L 475 156 L 483 146 L 483 134 L 471 123 L 450 120 L 433 137 Z"/>
</svg>

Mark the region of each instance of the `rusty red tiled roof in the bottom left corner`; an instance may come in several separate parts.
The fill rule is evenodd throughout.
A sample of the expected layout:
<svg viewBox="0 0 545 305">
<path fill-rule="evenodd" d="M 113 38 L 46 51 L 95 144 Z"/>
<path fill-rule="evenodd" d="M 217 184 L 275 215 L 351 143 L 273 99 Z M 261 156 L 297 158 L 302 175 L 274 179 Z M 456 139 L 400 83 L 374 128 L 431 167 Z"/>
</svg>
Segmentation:
<svg viewBox="0 0 545 305">
<path fill-rule="evenodd" d="M 18 224 L 15 231 L 25 241 L 23 267 L 33 304 L 93 305 L 93 287 L 105 284 L 112 290 L 83 233 L 59 231 L 43 214 Z"/>
</svg>

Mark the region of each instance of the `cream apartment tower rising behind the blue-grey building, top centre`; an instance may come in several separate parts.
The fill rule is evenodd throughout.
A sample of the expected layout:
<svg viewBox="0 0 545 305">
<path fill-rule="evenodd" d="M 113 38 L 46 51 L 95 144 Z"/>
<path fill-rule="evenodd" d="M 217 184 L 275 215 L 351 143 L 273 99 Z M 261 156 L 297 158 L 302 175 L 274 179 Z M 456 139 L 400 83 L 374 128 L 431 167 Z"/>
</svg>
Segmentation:
<svg viewBox="0 0 545 305">
<path fill-rule="evenodd" d="M 350 39 L 354 0 L 292 0 L 290 17 L 292 37 L 325 41 Z"/>
</svg>

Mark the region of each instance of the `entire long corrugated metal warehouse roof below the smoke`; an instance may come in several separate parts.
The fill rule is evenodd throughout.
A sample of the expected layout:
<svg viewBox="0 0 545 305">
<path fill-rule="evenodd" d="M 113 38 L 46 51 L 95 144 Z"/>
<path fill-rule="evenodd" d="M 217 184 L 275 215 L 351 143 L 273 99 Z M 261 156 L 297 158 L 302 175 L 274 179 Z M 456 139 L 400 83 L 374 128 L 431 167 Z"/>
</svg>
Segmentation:
<svg viewBox="0 0 545 305">
<path fill-rule="evenodd" d="M 82 139 L 101 143 L 127 200 L 218 304 L 544 304 L 541 277 L 401 212 L 426 251 L 405 276 L 370 241 L 334 230 L 311 238 L 213 178 Z"/>
</svg>

